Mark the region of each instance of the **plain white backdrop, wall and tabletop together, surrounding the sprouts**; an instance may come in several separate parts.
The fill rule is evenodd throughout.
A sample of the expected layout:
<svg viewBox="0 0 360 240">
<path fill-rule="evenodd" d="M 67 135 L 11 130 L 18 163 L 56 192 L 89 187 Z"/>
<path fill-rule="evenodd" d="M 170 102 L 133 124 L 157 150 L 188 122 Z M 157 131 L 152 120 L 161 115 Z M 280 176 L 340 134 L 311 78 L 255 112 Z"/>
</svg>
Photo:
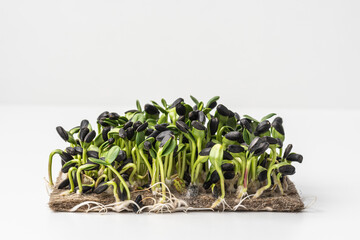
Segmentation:
<svg viewBox="0 0 360 240">
<path fill-rule="evenodd" d="M 0 234 L 358 238 L 358 1 L 0 1 Z M 284 118 L 302 213 L 63 214 L 43 177 L 55 127 L 162 97 Z M 56 164 L 55 164 L 56 165 Z M 59 165 L 59 164 L 58 164 Z M 59 166 L 56 166 L 59 169 Z M 54 171 L 56 172 L 56 171 Z M 106 233 L 104 233 L 106 232 Z"/>
</svg>

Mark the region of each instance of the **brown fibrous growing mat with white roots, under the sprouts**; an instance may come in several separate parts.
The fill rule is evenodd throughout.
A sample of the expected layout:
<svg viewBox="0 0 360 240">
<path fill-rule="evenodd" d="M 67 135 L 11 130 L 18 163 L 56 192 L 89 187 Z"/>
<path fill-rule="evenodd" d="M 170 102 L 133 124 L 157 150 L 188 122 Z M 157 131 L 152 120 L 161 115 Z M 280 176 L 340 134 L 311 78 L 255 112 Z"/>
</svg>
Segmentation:
<svg viewBox="0 0 360 240">
<path fill-rule="evenodd" d="M 101 194 L 95 193 L 83 193 L 83 194 L 63 194 L 67 190 L 57 189 L 59 183 L 66 178 L 66 174 L 60 173 L 57 178 L 55 188 L 50 194 L 49 206 L 52 210 L 58 212 L 99 212 L 99 211 L 116 211 L 112 207 L 114 206 L 114 195 L 109 188 L 106 192 Z M 161 208 L 161 212 L 177 212 L 177 211 L 274 211 L 274 212 L 299 212 L 304 209 L 304 203 L 302 202 L 295 185 L 285 178 L 284 195 L 281 195 L 278 190 L 267 190 L 259 198 L 251 198 L 251 189 L 249 195 L 239 199 L 235 193 L 227 193 L 225 201 L 219 204 L 216 208 L 211 209 L 211 205 L 216 200 L 211 191 L 205 191 L 201 187 L 199 188 L 199 194 L 196 197 L 187 197 L 186 193 L 180 194 L 175 188 L 170 188 L 171 196 L 169 197 L 169 203 L 165 204 L 166 207 Z M 158 196 L 154 196 L 150 189 L 134 190 L 131 191 L 132 200 L 141 194 L 142 204 L 141 212 L 152 211 L 154 200 L 158 199 Z M 170 196 L 170 195 L 169 195 Z M 174 200 L 176 199 L 176 200 Z M 130 201 L 129 201 L 130 202 Z M 121 212 L 133 211 L 132 203 L 121 208 Z M 139 213 L 140 211 L 138 211 Z M 160 212 L 160 211 L 155 211 Z"/>
</svg>

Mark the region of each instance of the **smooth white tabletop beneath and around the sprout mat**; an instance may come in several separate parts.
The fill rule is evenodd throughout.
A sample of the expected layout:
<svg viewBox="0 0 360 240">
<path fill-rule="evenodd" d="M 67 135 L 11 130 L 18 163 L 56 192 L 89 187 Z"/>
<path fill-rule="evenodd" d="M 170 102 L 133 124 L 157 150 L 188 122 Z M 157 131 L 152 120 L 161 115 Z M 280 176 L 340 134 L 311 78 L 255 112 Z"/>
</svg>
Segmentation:
<svg viewBox="0 0 360 240">
<path fill-rule="evenodd" d="M 285 143 L 304 156 L 291 177 L 306 204 L 301 213 L 82 214 L 49 209 L 44 178 L 51 150 L 66 144 L 55 131 L 95 124 L 119 106 L 0 106 L 1 239 L 359 239 L 360 181 L 357 110 L 237 109 L 284 119 Z M 60 163 L 54 160 L 56 173 Z M 56 175 L 56 174 L 55 174 Z"/>
</svg>

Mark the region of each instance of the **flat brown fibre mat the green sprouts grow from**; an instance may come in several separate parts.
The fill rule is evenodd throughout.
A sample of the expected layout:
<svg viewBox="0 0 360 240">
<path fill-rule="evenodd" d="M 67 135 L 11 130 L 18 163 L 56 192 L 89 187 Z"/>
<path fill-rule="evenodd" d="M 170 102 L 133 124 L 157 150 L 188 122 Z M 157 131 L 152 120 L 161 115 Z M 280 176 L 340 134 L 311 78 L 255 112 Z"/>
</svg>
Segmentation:
<svg viewBox="0 0 360 240">
<path fill-rule="evenodd" d="M 115 201 L 111 191 L 104 192 L 102 194 L 85 193 L 81 195 L 61 195 L 61 193 L 66 190 L 57 189 L 57 186 L 64 177 L 65 175 L 60 173 L 57 178 L 55 188 L 50 195 L 49 206 L 54 211 L 68 212 L 74 206 L 85 201 L 99 202 L 104 205 L 114 203 Z M 242 202 L 243 206 L 237 208 L 236 211 L 299 212 L 303 210 L 304 203 L 301 201 L 295 185 L 288 178 L 286 178 L 286 181 L 288 183 L 288 189 L 285 191 L 285 195 L 281 195 L 278 191 L 265 191 L 262 196 L 257 199 L 245 199 Z M 186 198 L 185 195 L 180 195 L 175 190 L 172 191 L 172 193 L 177 198 L 185 200 L 191 208 L 210 208 L 212 203 L 216 200 L 211 193 L 205 192 L 204 190 L 201 190 L 200 194 L 194 198 Z M 150 191 L 133 191 L 131 194 L 132 200 L 134 200 L 139 194 L 141 194 L 143 198 L 154 197 Z M 225 200 L 231 207 L 236 206 L 238 203 L 236 195 L 231 193 L 226 193 Z M 143 204 L 151 205 L 153 204 L 153 201 L 151 199 L 146 199 L 143 201 Z M 189 208 L 188 211 L 197 211 L 192 210 L 191 208 Z M 88 208 L 86 206 L 83 206 L 77 209 L 77 212 L 84 212 L 87 209 Z M 223 206 L 218 206 L 214 210 L 234 211 L 229 207 L 224 208 Z"/>
</svg>

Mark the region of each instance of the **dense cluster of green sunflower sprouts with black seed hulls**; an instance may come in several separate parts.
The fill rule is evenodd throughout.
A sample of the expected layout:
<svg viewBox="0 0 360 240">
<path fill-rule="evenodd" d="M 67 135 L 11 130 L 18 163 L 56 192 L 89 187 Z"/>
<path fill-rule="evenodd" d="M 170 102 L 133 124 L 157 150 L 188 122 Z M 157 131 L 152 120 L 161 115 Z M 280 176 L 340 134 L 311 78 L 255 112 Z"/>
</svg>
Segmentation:
<svg viewBox="0 0 360 240">
<path fill-rule="evenodd" d="M 67 174 L 57 188 L 64 194 L 101 194 L 112 191 L 115 203 L 128 202 L 135 212 L 142 207 L 142 197 L 130 201 L 131 192 L 151 189 L 154 209 L 181 205 L 169 188 L 186 198 L 196 197 L 200 189 L 212 192 L 216 200 L 211 208 L 224 204 L 227 192 L 239 201 L 255 189 L 253 198 L 266 190 L 286 190 L 287 175 L 295 173 L 292 162 L 301 163 L 302 155 L 283 148 L 283 120 L 269 114 L 260 121 L 240 115 L 217 104 L 213 97 L 207 104 L 191 96 L 195 106 L 178 98 L 172 104 L 154 101 L 120 116 L 105 111 L 97 118 L 97 133 L 88 120 L 65 130 L 56 128 L 70 144 L 56 149 L 49 157 L 49 184 L 52 160 L 61 157 L 61 171 Z M 169 188 L 168 188 L 169 187 Z M 110 190 L 109 190 L 110 189 Z M 170 196 L 170 197 L 168 197 Z M 124 204 L 123 204 L 124 205 Z M 176 208 L 176 206 L 172 206 Z"/>
</svg>

